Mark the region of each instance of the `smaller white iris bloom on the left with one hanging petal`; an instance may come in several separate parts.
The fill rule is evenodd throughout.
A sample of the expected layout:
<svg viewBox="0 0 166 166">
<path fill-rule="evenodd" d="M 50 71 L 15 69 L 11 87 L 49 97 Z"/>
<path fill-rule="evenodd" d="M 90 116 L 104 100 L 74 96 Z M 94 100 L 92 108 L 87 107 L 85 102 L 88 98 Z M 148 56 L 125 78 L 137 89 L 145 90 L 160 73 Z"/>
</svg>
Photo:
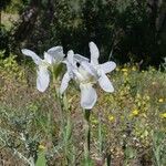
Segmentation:
<svg viewBox="0 0 166 166">
<path fill-rule="evenodd" d="M 54 46 L 49 49 L 46 52 L 44 52 L 43 60 L 31 50 L 22 49 L 21 51 L 24 55 L 31 56 L 34 63 L 38 65 L 37 89 L 40 92 L 44 92 L 48 89 L 50 82 L 50 72 L 48 68 L 52 64 L 59 64 L 62 62 L 64 58 L 63 48 Z"/>
</svg>

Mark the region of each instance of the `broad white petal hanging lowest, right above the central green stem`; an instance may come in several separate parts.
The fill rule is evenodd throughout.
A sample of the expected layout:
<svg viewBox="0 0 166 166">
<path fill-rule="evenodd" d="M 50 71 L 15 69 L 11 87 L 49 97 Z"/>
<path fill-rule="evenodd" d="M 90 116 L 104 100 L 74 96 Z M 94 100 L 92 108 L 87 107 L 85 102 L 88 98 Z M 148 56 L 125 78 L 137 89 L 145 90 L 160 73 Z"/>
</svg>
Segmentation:
<svg viewBox="0 0 166 166">
<path fill-rule="evenodd" d="M 92 84 L 80 84 L 81 89 L 81 106 L 91 110 L 97 100 L 97 94 Z"/>
</svg>

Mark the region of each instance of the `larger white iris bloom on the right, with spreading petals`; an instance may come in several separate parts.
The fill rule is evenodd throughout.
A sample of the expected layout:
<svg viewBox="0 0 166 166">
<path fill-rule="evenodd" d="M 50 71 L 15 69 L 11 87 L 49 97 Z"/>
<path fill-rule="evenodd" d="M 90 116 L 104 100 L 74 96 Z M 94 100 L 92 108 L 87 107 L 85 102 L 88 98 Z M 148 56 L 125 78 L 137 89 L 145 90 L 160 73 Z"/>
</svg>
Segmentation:
<svg viewBox="0 0 166 166">
<path fill-rule="evenodd" d="M 104 91 L 114 92 L 114 87 L 106 73 L 110 73 L 116 68 L 116 64 L 112 61 L 98 64 L 100 52 L 93 42 L 90 42 L 90 52 L 91 62 L 89 62 L 89 59 L 80 54 L 74 54 L 73 51 L 69 51 L 65 61 L 68 71 L 62 79 L 60 87 L 60 92 L 63 93 L 70 80 L 74 79 L 81 90 L 81 106 L 86 110 L 91 110 L 96 103 L 97 94 L 93 89 L 93 84 L 96 82 L 98 82 Z M 80 63 L 80 66 L 76 65 L 76 62 Z"/>
</svg>

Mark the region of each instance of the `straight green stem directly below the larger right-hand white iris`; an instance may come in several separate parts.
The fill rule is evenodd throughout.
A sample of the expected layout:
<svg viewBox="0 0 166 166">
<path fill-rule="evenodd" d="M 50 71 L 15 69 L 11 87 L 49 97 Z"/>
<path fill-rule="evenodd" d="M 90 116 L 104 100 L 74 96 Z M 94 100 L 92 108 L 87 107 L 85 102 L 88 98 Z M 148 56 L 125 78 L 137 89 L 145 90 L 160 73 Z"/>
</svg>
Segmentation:
<svg viewBox="0 0 166 166">
<path fill-rule="evenodd" d="M 91 151 L 91 123 L 90 123 L 91 111 L 84 111 L 84 131 L 85 131 L 85 142 L 84 142 L 84 155 L 85 165 L 90 166 L 90 151 Z"/>
</svg>

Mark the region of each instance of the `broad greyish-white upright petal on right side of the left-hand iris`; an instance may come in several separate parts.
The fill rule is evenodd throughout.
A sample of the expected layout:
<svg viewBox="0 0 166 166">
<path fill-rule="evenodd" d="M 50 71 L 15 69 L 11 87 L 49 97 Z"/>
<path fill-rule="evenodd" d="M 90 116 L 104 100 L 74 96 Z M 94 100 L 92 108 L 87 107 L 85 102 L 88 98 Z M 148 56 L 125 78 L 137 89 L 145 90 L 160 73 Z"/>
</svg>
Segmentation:
<svg viewBox="0 0 166 166">
<path fill-rule="evenodd" d="M 48 50 L 48 54 L 52 58 L 52 63 L 60 63 L 64 59 L 63 48 L 62 46 L 53 46 Z"/>
</svg>

